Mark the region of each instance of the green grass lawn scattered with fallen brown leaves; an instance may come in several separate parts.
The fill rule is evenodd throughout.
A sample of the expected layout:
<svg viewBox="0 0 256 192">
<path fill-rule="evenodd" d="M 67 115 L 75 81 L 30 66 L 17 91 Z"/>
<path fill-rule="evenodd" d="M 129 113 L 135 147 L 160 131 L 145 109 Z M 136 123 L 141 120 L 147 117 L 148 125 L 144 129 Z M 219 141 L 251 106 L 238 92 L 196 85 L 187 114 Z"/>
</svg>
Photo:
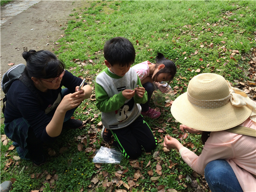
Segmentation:
<svg viewBox="0 0 256 192">
<path fill-rule="evenodd" d="M 256 46 L 253 38 L 256 28 L 255 5 L 253 1 L 93 1 L 90 2 L 90 6 L 78 7 L 72 14 L 67 15 L 69 22 L 65 27 L 62 26 L 65 36 L 59 39 L 60 44 L 52 49 L 55 50 L 58 58 L 66 63 L 70 72 L 76 76 L 90 78 L 88 82 L 93 87 L 96 75 L 105 68 L 104 42 L 115 36 L 123 36 L 135 47 L 135 64 L 145 60 L 154 62 L 158 52 L 175 61 L 178 68 L 177 75 L 170 86 L 182 88 L 175 95 L 177 97 L 186 91 L 185 83 L 188 84 L 193 76 L 199 74 L 196 72 L 197 69 L 201 70 L 200 73 L 223 75 L 231 82 L 235 79 L 252 80 L 246 77 L 243 71 L 249 68 L 247 54 L 250 54 L 250 49 Z M 234 59 L 230 58 L 231 53 L 236 50 L 239 53 L 233 55 Z M 199 60 L 201 58 L 203 61 Z M 100 130 L 97 130 L 100 112 L 93 98 L 84 101 L 74 114 L 75 118 L 87 120 L 86 127 L 83 130 L 63 131 L 54 146 L 46 146 L 46 153 L 48 148 L 51 148 L 56 155 L 48 155 L 48 163 L 44 166 L 35 167 L 29 161 L 14 160 L 14 163 L 4 170 L 9 159 L 17 154 L 15 150 L 8 151 L 11 141 L 7 146 L 1 143 L 1 181 L 16 178 L 12 191 L 31 191 L 41 187 L 48 173 L 51 176 L 58 175 L 58 180 L 51 185 L 53 186 L 51 191 L 79 191 L 81 186 L 90 191 L 105 191 L 101 181 L 111 181 L 115 172 L 121 168 L 114 164 L 101 164 L 99 170 L 89 158 L 91 153 L 77 150 L 80 140 L 74 139 L 89 132 L 96 133 L 96 138 L 91 138 L 96 142 L 88 145 L 94 148 L 104 146 L 101 143 Z M 155 107 L 153 102 L 151 106 Z M 181 133 L 175 132 L 179 123 L 174 119 L 167 122 L 167 119 L 172 117 L 170 108 L 164 106 L 159 108 L 162 113 L 159 119 L 145 120 L 159 141 L 154 152 L 159 151 L 160 155 L 158 158 L 153 158 L 154 152 L 142 154 L 138 162 L 143 165 L 140 170 L 143 177 L 136 181 L 138 186 L 131 191 L 157 191 L 158 185 L 164 185 L 165 190 L 175 188 L 178 191 L 194 191 L 186 176 L 198 180 L 201 186 L 204 185 L 202 176 L 195 175 L 177 151 L 165 153 L 162 150 L 160 143 L 163 142 L 164 135 L 169 134 L 177 138 Z M 160 133 L 155 130 L 157 126 L 164 127 L 166 132 Z M 1 134 L 4 134 L 3 125 Z M 194 144 L 193 150 L 199 155 L 202 151 L 200 136 L 189 134 L 183 140 L 183 144 L 188 142 Z M 63 146 L 68 147 L 68 151 L 61 154 L 59 150 Z M 84 145 L 84 148 L 86 147 Z M 9 152 L 10 156 L 5 157 L 6 152 Z M 146 167 L 148 161 L 151 161 L 151 166 Z M 16 162 L 18 165 L 15 165 Z M 162 175 L 158 182 L 154 183 L 151 177 L 159 176 L 156 173 L 158 162 L 162 164 Z M 170 163 L 177 165 L 168 168 Z M 125 159 L 121 162 L 121 166 L 124 169 L 129 168 L 122 177 L 122 181 L 127 183 L 127 179 L 134 178 L 136 169 Z M 151 169 L 153 176 L 147 174 Z M 20 173 L 22 170 L 23 172 Z M 103 178 L 100 174 L 102 171 L 108 172 L 109 176 Z M 32 174 L 39 173 L 42 173 L 41 178 L 31 178 Z M 100 182 L 94 185 L 90 180 L 95 175 L 99 177 Z M 180 175 L 185 178 L 180 180 L 178 178 Z M 96 186 L 98 189 L 95 189 Z M 115 189 L 126 188 L 122 185 Z"/>
</svg>

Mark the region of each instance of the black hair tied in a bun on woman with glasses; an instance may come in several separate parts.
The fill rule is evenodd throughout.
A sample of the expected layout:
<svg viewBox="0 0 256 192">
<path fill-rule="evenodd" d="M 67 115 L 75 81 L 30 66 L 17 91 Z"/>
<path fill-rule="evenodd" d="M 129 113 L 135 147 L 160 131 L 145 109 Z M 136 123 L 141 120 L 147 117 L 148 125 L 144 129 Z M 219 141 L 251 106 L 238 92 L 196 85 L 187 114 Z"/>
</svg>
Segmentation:
<svg viewBox="0 0 256 192">
<path fill-rule="evenodd" d="M 65 68 L 64 63 L 57 59 L 56 55 L 50 51 L 29 50 L 24 51 L 22 56 L 27 61 L 25 72 L 30 78 L 55 78 L 60 75 Z"/>
</svg>

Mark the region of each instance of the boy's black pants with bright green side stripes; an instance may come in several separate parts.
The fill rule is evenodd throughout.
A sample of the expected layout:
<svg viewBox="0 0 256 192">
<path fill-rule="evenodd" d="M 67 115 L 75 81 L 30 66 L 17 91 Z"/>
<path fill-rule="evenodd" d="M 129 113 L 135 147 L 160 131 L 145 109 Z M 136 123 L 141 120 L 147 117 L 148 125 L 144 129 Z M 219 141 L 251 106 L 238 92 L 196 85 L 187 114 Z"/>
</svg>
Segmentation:
<svg viewBox="0 0 256 192">
<path fill-rule="evenodd" d="M 157 144 L 150 127 L 141 115 L 130 125 L 111 132 L 120 151 L 128 159 L 137 159 L 141 155 L 142 148 L 145 152 L 151 152 Z"/>
</svg>

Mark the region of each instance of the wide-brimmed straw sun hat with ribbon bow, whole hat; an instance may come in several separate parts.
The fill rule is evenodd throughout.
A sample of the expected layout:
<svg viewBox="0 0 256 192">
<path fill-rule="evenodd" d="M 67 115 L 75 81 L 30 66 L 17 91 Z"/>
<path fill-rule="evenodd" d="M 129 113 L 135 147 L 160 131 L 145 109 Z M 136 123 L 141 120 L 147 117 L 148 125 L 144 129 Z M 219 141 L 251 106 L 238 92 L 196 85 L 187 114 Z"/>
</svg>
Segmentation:
<svg viewBox="0 0 256 192">
<path fill-rule="evenodd" d="M 255 111 L 255 103 L 238 90 L 221 75 L 199 74 L 190 80 L 187 92 L 173 102 L 172 115 L 200 131 L 230 129 L 250 117 L 253 108 Z"/>
</svg>

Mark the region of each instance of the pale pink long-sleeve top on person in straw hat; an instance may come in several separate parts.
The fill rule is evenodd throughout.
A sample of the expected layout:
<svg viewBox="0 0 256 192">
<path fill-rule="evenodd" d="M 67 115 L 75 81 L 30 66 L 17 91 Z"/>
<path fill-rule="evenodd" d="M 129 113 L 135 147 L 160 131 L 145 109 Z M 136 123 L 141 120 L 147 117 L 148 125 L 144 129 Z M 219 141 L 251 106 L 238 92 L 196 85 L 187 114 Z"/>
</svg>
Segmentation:
<svg viewBox="0 0 256 192">
<path fill-rule="evenodd" d="M 240 125 L 256 130 L 256 123 L 250 118 Z M 227 131 L 211 132 L 200 156 L 186 147 L 180 148 L 179 152 L 182 159 L 202 175 L 207 163 L 225 159 L 236 174 L 243 191 L 256 191 L 256 179 L 251 175 L 256 175 L 256 137 Z"/>
</svg>

